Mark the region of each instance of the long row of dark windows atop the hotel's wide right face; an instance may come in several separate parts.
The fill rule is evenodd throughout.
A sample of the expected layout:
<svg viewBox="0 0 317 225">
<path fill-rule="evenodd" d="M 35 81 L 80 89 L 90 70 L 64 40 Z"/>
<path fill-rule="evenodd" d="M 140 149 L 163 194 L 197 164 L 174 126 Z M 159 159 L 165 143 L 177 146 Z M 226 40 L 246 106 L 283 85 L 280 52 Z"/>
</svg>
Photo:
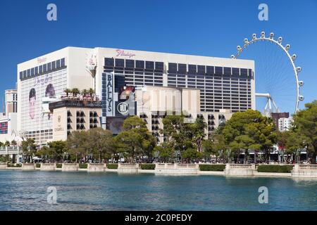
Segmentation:
<svg viewBox="0 0 317 225">
<path fill-rule="evenodd" d="M 116 70 L 142 69 L 142 70 L 163 70 L 164 63 L 144 61 L 144 60 L 124 60 L 121 58 L 105 58 L 106 69 Z M 252 70 L 247 68 L 228 68 L 209 65 L 192 65 L 182 63 L 168 63 L 168 73 L 172 74 L 192 74 L 192 75 L 241 75 L 252 76 Z"/>
</svg>

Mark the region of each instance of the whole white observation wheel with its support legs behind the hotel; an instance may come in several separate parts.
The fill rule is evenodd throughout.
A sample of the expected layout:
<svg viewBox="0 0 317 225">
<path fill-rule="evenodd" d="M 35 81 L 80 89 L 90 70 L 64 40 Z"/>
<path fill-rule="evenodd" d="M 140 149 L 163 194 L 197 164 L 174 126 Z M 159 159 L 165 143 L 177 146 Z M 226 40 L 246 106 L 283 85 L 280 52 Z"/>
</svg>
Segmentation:
<svg viewBox="0 0 317 225">
<path fill-rule="evenodd" d="M 278 37 L 277 40 L 274 39 L 274 33 L 270 33 L 269 37 L 266 37 L 266 33 L 265 32 L 261 32 L 261 37 L 256 37 L 256 34 L 252 34 L 252 39 L 249 41 L 249 39 L 244 39 L 244 45 L 243 46 L 237 46 L 237 54 L 236 55 L 232 55 L 231 58 L 232 59 L 236 59 L 238 57 L 240 57 L 242 55 L 242 53 L 244 51 L 246 51 L 248 49 L 249 46 L 251 46 L 252 44 L 256 44 L 256 43 L 260 43 L 260 42 L 267 42 L 269 44 L 275 44 L 276 46 L 278 46 L 279 51 L 282 50 L 282 53 L 284 53 L 285 56 L 287 56 L 288 61 L 290 62 L 290 64 L 292 65 L 292 73 L 294 75 L 294 79 L 292 79 L 292 82 L 294 84 L 294 96 L 296 96 L 296 98 L 292 97 L 291 101 L 294 103 L 294 113 L 297 113 L 297 111 L 299 110 L 299 102 L 300 101 L 304 101 L 304 96 L 300 95 L 300 89 L 301 87 L 304 85 L 304 82 L 299 80 L 299 72 L 302 71 L 302 68 L 297 67 L 295 65 L 295 60 L 297 59 L 297 55 L 293 54 L 292 56 L 290 55 L 290 44 L 286 44 L 285 46 L 282 46 L 282 37 Z M 280 65 L 278 65 L 278 62 L 276 62 L 277 60 L 275 60 L 275 64 L 277 65 L 277 68 L 281 68 Z M 272 63 L 273 64 L 273 63 Z M 289 65 L 289 64 L 288 64 Z M 268 65 L 268 67 L 271 65 Z M 282 69 L 280 69 L 282 70 Z M 274 75 L 275 71 L 271 71 L 266 73 L 263 76 L 269 76 L 269 75 Z M 284 71 L 282 71 L 284 72 Z M 274 79 L 274 78 L 272 78 Z M 290 77 L 287 77 L 286 79 L 290 80 Z M 285 81 L 285 78 L 283 78 L 283 81 Z M 272 82 L 269 83 L 270 85 L 273 84 Z M 262 85 L 262 84 L 261 84 Z M 268 86 L 270 86 L 268 85 Z M 288 85 L 288 84 L 285 84 Z M 271 85 L 273 86 L 273 85 Z M 291 86 L 291 85 L 288 85 Z M 274 87 L 272 87 L 273 89 Z M 256 88 L 257 90 L 257 88 Z M 276 92 L 276 91 L 270 91 L 268 90 L 266 93 L 257 93 L 256 92 L 256 97 L 258 98 L 266 98 L 266 105 L 264 107 L 263 110 L 263 114 L 271 117 L 271 113 L 279 113 L 280 109 L 278 108 L 278 104 L 275 103 L 275 98 L 279 98 L 279 96 L 282 96 L 283 94 L 272 94 L 271 92 Z M 288 91 L 287 91 L 288 92 Z M 282 101 L 282 100 L 280 100 Z"/>
</svg>

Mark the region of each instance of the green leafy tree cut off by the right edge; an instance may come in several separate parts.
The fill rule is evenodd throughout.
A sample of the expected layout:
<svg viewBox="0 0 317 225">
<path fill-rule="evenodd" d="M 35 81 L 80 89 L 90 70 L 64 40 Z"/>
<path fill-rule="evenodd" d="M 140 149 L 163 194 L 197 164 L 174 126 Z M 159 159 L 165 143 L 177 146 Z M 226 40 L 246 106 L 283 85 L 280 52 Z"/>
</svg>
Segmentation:
<svg viewBox="0 0 317 225">
<path fill-rule="evenodd" d="M 304 110 L 293 116 L 292 131 L 297 134 L 299 143 L 287 143 L 288 148 L 304 147 L 309 153 L 311 163 L 316 164 L 317 156 L 317 100 L 306 103 Z"/>
</svg>

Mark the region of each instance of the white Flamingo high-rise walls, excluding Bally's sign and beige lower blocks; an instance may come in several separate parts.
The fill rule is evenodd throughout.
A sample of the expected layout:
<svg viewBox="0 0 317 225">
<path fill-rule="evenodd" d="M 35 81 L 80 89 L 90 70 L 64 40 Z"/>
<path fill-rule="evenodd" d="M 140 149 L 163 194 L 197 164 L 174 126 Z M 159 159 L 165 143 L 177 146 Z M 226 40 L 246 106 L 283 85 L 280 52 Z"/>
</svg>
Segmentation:
<svg viewBox="0 0 317 225">
<path fill-rule="evenodd" d="M 228 119 L 237 111 L 255 109 L 253 60 L 67 47 L 18 64 L 18 131 L 27 131 L 39 145 L 52 141 L 54 121 L 47 104 L 65 96 L 66 88 L 95 89 L 104 105 L 100 117 L 106 120 L 108 72 L 113 74 L 113 92 L 121 86 L 199 90 L 199 107 L 193 113 L 204 115 L 206 122 L 216 118 L 216 123 L 208 121 L 211 130 L 223 115 Z M 144 116 L 140 104 L 136 114 Z M 148 123 L 151 130 L 150 119 Z"/>
</svg>

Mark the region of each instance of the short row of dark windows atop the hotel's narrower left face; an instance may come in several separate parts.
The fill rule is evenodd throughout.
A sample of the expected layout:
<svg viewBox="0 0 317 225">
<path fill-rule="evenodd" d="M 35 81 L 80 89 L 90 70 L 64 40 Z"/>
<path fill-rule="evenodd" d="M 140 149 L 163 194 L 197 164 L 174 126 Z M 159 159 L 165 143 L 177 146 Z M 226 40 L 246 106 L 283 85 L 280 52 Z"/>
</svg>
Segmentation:
<svg viewBox="0 0 317 225">
<path fill-rule="evenodd" d="M 20 79 L 32 78 L 65 67 L 65 58 L 20 72 Z"/>
</svg>

